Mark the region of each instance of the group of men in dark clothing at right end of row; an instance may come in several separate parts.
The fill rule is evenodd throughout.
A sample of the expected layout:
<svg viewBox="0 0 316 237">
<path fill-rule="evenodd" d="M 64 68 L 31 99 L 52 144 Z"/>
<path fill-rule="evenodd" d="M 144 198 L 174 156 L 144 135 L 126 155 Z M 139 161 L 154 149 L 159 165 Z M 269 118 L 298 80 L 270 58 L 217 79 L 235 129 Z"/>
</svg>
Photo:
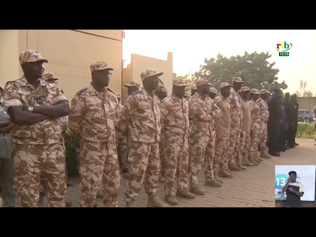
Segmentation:
<svg viewBox="0 0 316 237">
<path fill-rule="evenodd" d="M 269 154 L 279 157 L 280 152 L 292 149 L 298 144 L 295 135 L 298 125 L 297 95 L 284 96 L 280 90 L 274 89 L 268 99 L 269 121 L 268 121 L 268 146 Z"/>
</svg>

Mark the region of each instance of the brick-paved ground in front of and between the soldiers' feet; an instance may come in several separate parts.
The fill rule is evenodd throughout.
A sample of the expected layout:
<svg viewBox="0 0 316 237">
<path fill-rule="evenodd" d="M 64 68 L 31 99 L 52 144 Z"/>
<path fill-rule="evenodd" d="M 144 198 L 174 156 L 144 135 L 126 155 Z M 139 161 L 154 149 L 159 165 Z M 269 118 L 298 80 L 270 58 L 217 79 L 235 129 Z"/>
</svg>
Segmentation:
<svg viewBox="0 0 316 237">
<path fill-rule="evenodd" d="M 275 207 L 275 165 L 316 165 L 314 139 L 297 139 L 294 149 L 281 154 L 281 157 L 264 159 L 259 166 L 247 167 L 245 171 L 232 171 L 234 178 L 223 178 L 221 188 L 205 187 L 203 173 L 199 175 L 199 184 L 206 191 L 204 196 L 193 200 L 178 198 L 179 204 L 174 207 Z M 121 179 L 119 206 L 125 207 L 125 180 Z M 160 184 L 159 196 L 164 198 L 163 185 Z M 79 207 L 80 189 L 74 185 L 67 190 L 67 200 L 73 207 Z M 45 200 L 46 202 L 46 200 Z M 102 207 L 101 199 L 97 200 Z M 142 190 L 137 199 L 138 207 L 147 205 L 147 195 Z M 19 203 L 17 201 L 17 206 Z"/>
</svg>

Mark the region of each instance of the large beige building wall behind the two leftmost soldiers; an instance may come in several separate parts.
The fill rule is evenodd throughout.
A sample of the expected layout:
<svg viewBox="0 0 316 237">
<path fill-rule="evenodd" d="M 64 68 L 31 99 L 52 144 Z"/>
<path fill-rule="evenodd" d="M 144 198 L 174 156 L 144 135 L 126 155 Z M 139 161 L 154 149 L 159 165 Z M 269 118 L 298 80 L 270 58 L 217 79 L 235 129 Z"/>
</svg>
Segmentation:
<svg viewBox="0 0 316 237">
<path fill-rule="evenodd" d="M 9 43 L 6 40 L 7 46 L 2 47 L 2 40 L 6 39 L 5 37 L 13 41 Z M 6 33 L 1 30 L 0 42 L 0 59 L 9 55 L 10 63 L 7 63 L 10 66 L 9 71 L 14 71 L 10 75 L 1 67 L 1 84 L 22 77 L 18 56 L 22 51 L 33 49 L 38 50 L 42 57 L 49 61 L 44 64 L 45 72 L 52 72 L 59 78 L 58 84 L 69 100 L 80 89 L 89 86 L 91 81 L 89 66 L 95 61 L 106 61 L 114 68 L 109 88 L 121 93 L 122 30 L 8 30 Z M 14 49 L 11 54 L 2 49 L 10 48 L 9 44 Z M 16 67 L 18 71 L 14 70 Z"/>
</svg>

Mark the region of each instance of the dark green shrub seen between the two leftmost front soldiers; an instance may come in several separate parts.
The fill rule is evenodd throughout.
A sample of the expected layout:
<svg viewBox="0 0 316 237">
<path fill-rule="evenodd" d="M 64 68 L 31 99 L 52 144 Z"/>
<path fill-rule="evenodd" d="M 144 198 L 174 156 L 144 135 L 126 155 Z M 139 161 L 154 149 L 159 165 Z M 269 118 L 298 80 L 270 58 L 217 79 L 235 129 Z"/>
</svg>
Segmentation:
<svg viewBox="0 0 316 237">
<path fill-rule="evenodd" d="M 71 132 L 69 132 L 71 134 Z M 77 162 L 77 153 L 75 145 L 75 137 L 72 136 L 71 141 L 65 142 L 66 147 L 66 165 L 68 177 L 75 177 L 79 175 L 78 162 Z"/>
</svg>

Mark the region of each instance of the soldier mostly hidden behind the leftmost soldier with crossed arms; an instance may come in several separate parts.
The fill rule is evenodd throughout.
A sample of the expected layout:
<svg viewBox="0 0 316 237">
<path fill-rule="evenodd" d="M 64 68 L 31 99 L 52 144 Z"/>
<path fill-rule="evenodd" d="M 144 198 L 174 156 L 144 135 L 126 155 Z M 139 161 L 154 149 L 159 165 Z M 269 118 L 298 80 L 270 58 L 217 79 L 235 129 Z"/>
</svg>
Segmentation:
<svg viewBox="0 0 316 237">
<path fill-rule="evenodd" d="M 49 83 L 55 83 L 57 84 L 56 80 L 58 80 L 58 78 L 54 77 L 54 75 L 51 72 L 48 73 L 44 73 L 42 78 L 42 80 L 45 80 Z M 71 140 L 71 135 L 67 132 L 67 123 L 68 123 L 68 117 L 62 117 L 62 118 L 58 118 L 60 125 L 62 127 L 62 133 L 63 133 L 63 137 L 61 140 L 61 144 L 64 147 L 65 151 L 66 151 L 66 147 L 65 147 L 65 140 L 69 141 Z M 67 154 L 66 154 L 67 155 Z M 67 173 L 67 163 L 65 163 L 65 173 L 66 173 L 66 192 L 67 192 L 67 179 L 68 179 L 68 173 Z M 47 178 L 44 172 L 41 173 L 40 175 L 40 199 L 39 199 L 39 207 L 43 207 L 44 206 L 44 197 L 47 194 Z M 65 192 L 65 193 L 66 193 Z M 72 205 L 71 201 L 65 201 L 65 207 L 70 207 Z"/>
</svg>

